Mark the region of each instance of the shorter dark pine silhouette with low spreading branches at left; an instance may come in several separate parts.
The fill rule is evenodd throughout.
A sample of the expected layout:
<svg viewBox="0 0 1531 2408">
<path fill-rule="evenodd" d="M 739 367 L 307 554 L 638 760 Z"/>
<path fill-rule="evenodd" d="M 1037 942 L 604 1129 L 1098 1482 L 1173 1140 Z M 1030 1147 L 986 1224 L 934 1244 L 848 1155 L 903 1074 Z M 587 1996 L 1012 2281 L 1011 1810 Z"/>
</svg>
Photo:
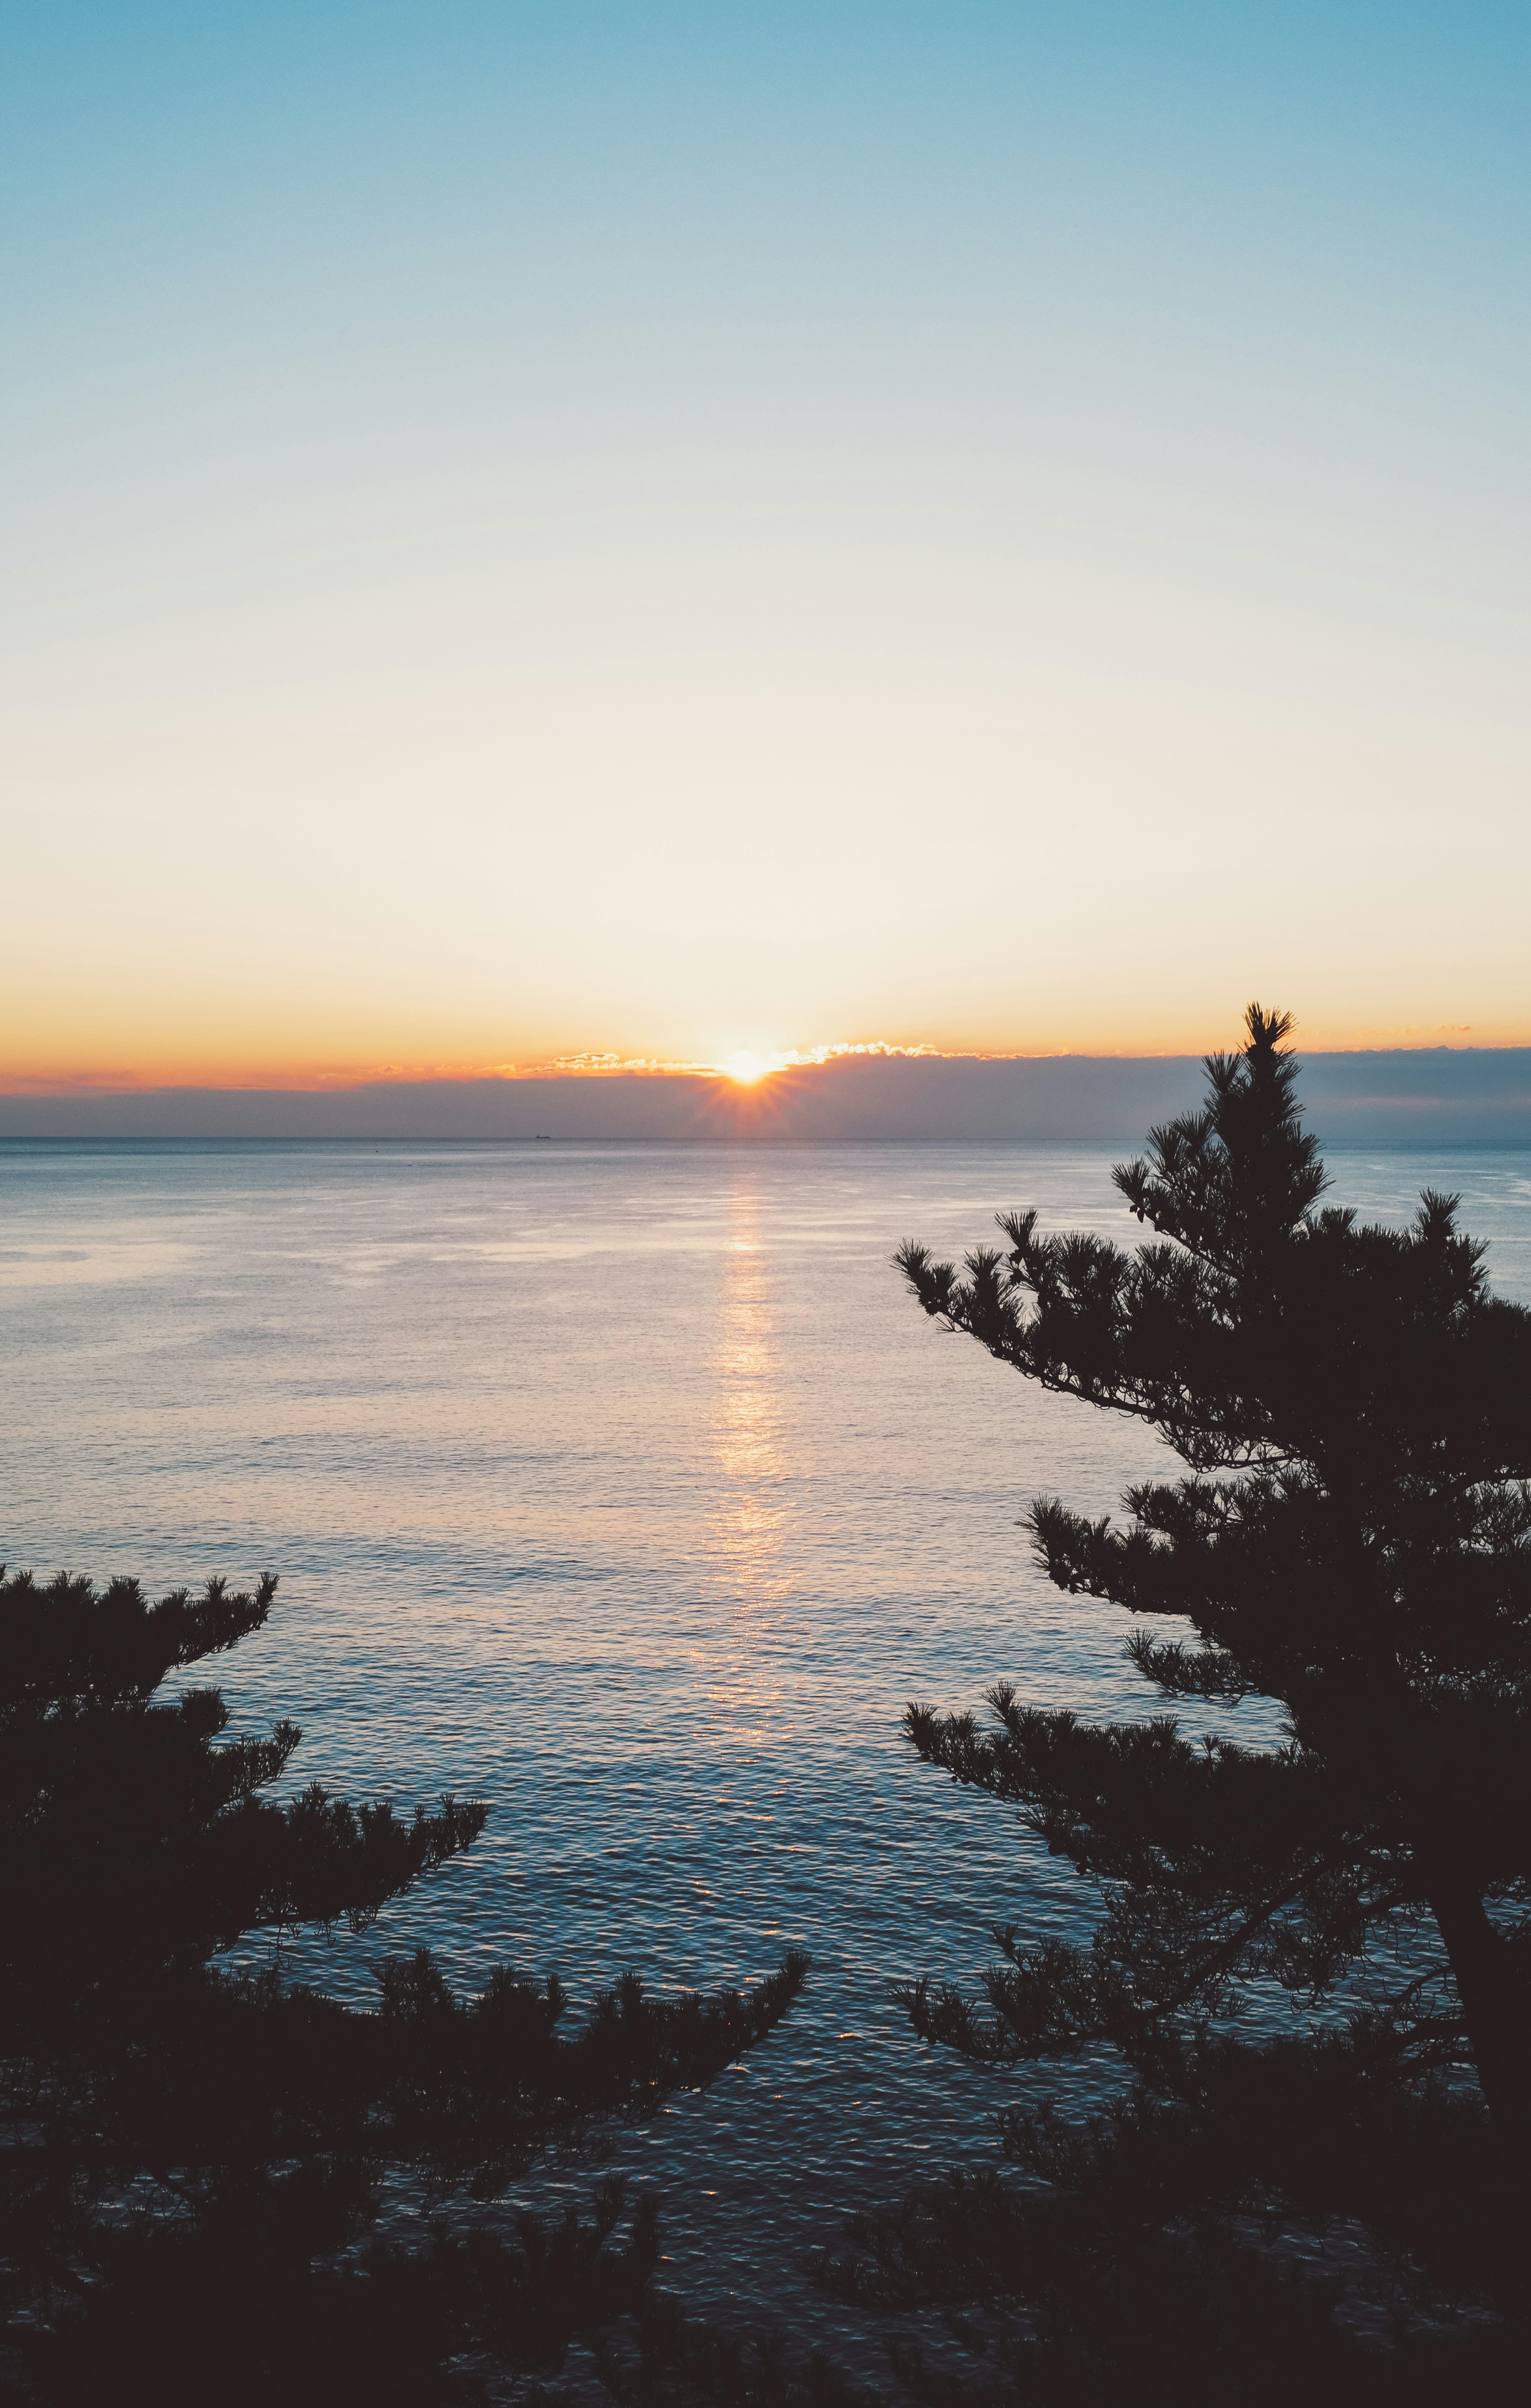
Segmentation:
<svg viewBox="0 0 1531 2408">
<path fill-rule="evenodd" d="M 510 2232 L 373 2232 L 378 2186 L 489 2201 L 602 2124 L 698 2088 L 787 2011 L 804 1958 L 739 1996 L 636 1977 L 571 2028 L 556 1982 L 460 1999 L 390 1958 L 376 2011 L 219 1970 L 241 1934 L 361 1931 L 445 1866 L 486 1808 L 409 1820 L 320 1787 L 272 1801 L 298 1731 L 226 1739 L 214 1688 L 166 1674 L 258 1630 L 277 1582 L 149 1604 L 137 1582 L 0 1577 L 0 2189 L 5 2365 L 43 2401 L 474 2398 L 636 2314 L 619 2389 L 751 2389 L 739 2353 L 655 2307 L 652 2211 L 621 2186 Z M 628 2353 L 631 2360 L 631 2353 Z"/>
</svg>

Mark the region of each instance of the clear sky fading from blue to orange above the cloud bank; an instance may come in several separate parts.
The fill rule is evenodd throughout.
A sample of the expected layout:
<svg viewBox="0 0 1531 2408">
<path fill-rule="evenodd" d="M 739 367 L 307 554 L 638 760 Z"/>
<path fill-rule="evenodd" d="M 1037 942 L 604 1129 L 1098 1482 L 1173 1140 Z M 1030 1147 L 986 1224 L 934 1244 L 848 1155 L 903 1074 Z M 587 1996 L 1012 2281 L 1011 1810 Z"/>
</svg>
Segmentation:
<svg viewBox="0 0 1531 2408">
<path fill-rule="evenodd" d="M 12 0 L 0 1081 L 1531 1038 L 1529 53 Z"/>
</svg>

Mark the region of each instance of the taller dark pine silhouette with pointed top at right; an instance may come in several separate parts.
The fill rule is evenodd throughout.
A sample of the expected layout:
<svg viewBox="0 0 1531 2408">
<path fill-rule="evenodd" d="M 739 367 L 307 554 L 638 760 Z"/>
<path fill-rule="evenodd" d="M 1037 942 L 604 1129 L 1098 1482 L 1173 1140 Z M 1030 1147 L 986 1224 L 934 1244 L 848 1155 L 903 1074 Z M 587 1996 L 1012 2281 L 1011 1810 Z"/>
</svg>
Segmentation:
<svg viewBox="0 0 1531 2408">
<path fill-rule="evenodd" d="M 960 1269 L 898 1255 L 944 1327 L 1189 1469 L 1129 1491 L 1124 1527 L 1038 1500 L 1047 1575 L 1146 1618 L 1129 1657 L 1172 1705 L 1285 1707 L 1276 1751 L 1009 1686 L 989 1727 L 908 1714 L 1103 1902 L 1083 1948 L 999 1931 L 982 2001 L 910 1987 L 915 2028 L 992 2066 L 1117 2052 L 1131 2081 L 1088 2131 L 1006 2117 L 1023 2179 L 864 2220 L 830 2280 L 987 2312 L 973 2333 L 1038 2398 L 1266 2401 L 1341 2367 L 1353 2398 L 1490 2398 L 1526 2374 L 1531 1312 L 1490 1296 L 1454 1197 L 1406 1230 L 1319 1206 L 1288 1026 L 1249 1007 L 1204 1110 L 1117 1168 L 1153 1243 L 1023 1211 Z M 1290 2028 L 1240 2037 L 1281 1991 Z M 1492 2314 L 1362 2353 L 1252 2247 L 1283 2218 L 1360 2220 L 1394 2300 Z"/>
</svg>

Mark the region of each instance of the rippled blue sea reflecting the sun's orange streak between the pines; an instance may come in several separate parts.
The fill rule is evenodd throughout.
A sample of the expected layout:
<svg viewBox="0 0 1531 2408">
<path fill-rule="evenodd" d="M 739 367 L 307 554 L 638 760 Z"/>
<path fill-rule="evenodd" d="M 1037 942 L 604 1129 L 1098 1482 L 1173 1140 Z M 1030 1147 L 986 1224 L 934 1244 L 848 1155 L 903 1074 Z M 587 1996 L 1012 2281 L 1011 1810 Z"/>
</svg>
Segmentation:
<svg viewBox="0 0 1531 2408">
<path fill-rule="evenodd" d="M 1531 1153 L 1329 1168 L 1367 1218 L 1461 1192 L 1531 1300 Z M 994 2162 L 1004 2102 L 1078 2109 L 1103 2078 L 980 2076 L 908 2035 L 893 1982 L 973 1979 L 994 1922 L 1083 1931 L 1090 1893 L 917 1765 L 900 1710 L 1004 1676 L 1153 1712 L 1122 1616 L 1054 1592 L 1016 1522 L 1175 1471 L 944 1336 L 888 1255 L 960 1252 L 1016 1204 L 1134 1243 L 1110 1158 L 7 1141 L 0 1199 L 10 1565 L 156 1592 L 270 1568 L 267 1630 L 200 1674 L 236 1729 L 294 1717 L 294 1784 L 489 1801 L 465 1859 L 301 1972 L 366 1996 L 428 1943 L 467 1984 L 508 1960 L 580 1999 L 806 1948 L 773 2040 L 614 2162 L 662 2194 L 691 2302 L 855 2350 L 802 2278 L 847 2208 Z M 1276 1736 L 1261 1702 L 1194 1727 Z"/>
</svg>

